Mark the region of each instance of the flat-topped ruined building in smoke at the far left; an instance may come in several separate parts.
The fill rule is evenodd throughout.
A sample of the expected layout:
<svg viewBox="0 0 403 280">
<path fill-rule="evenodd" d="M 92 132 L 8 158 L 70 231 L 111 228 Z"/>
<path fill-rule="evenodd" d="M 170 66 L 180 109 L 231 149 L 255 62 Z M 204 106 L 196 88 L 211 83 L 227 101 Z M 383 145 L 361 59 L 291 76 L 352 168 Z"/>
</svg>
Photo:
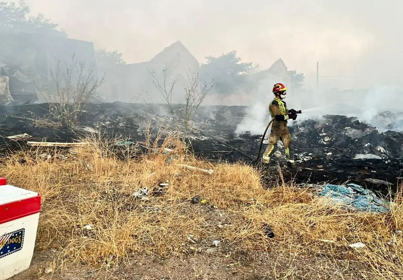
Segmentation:
<svg viewBox="0 0 403 280">
<path fill-rule="evenodd" d="M 77 60 L 95 64 L 93 43 L 45 34 L 0 34 L 2 75 L 10 79 L 11 94 L 33 93 L 38 87 L 50 85 L 49 70 L 59 59 L 70 63 L 73 53 Z M 40 99 L 40 96 L 38 96 Z"/>
</svg>

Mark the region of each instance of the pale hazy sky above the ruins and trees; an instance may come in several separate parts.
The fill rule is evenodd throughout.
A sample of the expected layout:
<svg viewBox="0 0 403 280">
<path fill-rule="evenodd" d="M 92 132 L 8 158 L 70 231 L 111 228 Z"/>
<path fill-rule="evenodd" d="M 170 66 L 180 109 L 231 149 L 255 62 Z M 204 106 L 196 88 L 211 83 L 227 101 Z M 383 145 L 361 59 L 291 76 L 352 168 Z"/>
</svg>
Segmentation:
<svg viewBox="0 0 403 280">
<path fill-rule="evenodd" d="M 403 4 L 396 0 L 25 0 L 70 38 L 147 61 L 180 40 L 200 61 L 237 50 L 268 68 L 399 82 Z M 348 78 L 347 78 L 348 79 Z"/>
</svg>

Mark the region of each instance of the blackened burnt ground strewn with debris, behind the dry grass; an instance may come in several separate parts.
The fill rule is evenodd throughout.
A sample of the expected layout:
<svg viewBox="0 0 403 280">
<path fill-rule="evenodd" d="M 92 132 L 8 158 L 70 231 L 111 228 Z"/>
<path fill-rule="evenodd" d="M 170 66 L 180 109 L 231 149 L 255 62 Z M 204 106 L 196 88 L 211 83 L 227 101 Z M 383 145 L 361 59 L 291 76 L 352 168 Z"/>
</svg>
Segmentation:
<svg viewBox="0 0 403 280">
<path fill-rule="evenodd" d="M 180 105 L 174 109 L 178 115 L 183 113 Z M 355 117 L 341 115 L 290 123 L 296 160 L 302 171 L 293 174 L 287 171 L 280 142 L 273 163 L 262 166 L 260 161 L 251 158 L 258 154 L 263 130 L 260 135 L 235 134 L 246 109 L 245 106 L 200 107 L 192 122 L 194 129 L 187 133 L 195 155 L 208 161 L 250 163 L 262 169 L 268 181 L 278 179 L 280 167 L 285 180 L 295 180 L 298 184 L 349 181 L 383 193 L 395 189 L 403 176 L 403 133 L 379 132 Z M 133 143 L 140 142 L 145 139 L 147 123 L 152 137 L 164 129 L 167 133 L 166 127 L 171 124 L 167 115 L 168 108 L 164 105 L 88 104 L 79 117 L 80 126 L 71 131 L 51 122 L 47 104 L 0 106 L 0 153 L 5 155 L 26 148 L 24 140 L 7 138 L 17 134 L 28 134 L 30 141 L 74 142 L 87 134 L 100 134 L 105 138 L 119 136 Z"/>
</svg>

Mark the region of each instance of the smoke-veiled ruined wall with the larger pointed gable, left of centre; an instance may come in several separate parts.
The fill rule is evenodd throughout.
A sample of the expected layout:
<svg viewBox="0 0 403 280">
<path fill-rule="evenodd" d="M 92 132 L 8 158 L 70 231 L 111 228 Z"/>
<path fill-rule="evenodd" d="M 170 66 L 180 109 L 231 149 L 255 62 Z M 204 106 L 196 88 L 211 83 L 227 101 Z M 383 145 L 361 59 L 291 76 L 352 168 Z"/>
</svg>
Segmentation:
<svg viewBox="0 0 403 280">
<path fill-rule="evenodd" d="M 153 78 L 150 74 L 150 71 L 154 72 L 162 83 L 163 69 L 166 69 L 167 73 L 167 88 L 170 88 L 173 80 L 177 80 L 174 86 L 172 102 L 183 102 L 184 88 L 188 85 L 187 73 L 189 71 L 198 71 L 199 62 L 179 41 L 164 48 L 150 61 L 107 69 L 106 82 L 98 89 L 98 93 L 109 102 L 116 100 L 124 102 L 141 102 L 143 100 L 156 103 L 164 102 L 160 92 L 152 83 Z"/>
</svg>

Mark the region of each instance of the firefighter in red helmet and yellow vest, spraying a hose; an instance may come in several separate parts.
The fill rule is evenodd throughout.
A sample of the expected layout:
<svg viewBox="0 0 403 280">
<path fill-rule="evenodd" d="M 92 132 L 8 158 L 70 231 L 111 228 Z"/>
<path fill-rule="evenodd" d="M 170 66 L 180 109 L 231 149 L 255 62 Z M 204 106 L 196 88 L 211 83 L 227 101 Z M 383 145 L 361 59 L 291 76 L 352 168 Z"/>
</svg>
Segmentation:
<svg viewBox="0 0 403 280">
<path fill-rule="evenodd" d="M 269 111 L 272 116 L 272 130 L 269 136 L 269 145 L 264 151 L 262 162 L 270 163 L 270 157 L 277 148 L 278 139 L 283 142 L 285 149 L 285 155 L 287 157 L 288 166 L 291 171 L 299 171 L 299 168 L 295 166 L 294 160 L 294 148 L 291 144 L 291 134 L 287 127 L 287 120 L 297 119 L 297 114 L 294 109 L 287 109 L 287 104 L 284 98 L 287 94 L 287 88 L 283 84 L 275 84 L 273 86 L 274 99 L 270 102 Z"/>
</svg>

